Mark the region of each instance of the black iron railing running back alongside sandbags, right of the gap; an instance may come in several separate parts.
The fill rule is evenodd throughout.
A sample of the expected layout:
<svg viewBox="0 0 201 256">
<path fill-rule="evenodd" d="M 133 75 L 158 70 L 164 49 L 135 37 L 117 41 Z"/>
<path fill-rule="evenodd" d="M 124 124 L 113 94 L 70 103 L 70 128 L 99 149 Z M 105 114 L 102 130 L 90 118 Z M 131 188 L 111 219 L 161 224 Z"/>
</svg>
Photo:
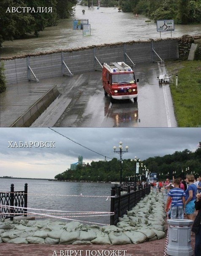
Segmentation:
<svg viewBox="0 0 201 256">
<path fill-rule="evenodd" d="M 143 186 L 113 186 L 111 188 L 110 211 L 114 212 L 114 215 L 110 216 L 110 225 L 116 225 L 119 217 L 131 210 L 150 191 L 151 186 L 149 184 Z"/>
</svg>

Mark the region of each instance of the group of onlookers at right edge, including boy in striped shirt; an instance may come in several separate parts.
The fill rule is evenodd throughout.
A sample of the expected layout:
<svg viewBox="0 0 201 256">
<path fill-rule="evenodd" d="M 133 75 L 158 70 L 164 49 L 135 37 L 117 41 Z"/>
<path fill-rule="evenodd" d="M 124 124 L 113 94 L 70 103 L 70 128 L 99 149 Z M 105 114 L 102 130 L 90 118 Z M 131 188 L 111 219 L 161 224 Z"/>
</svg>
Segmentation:
<svg viewBox="0 0 201 256">
<path fill-rule="evenodd" d="M 188 220 L 193 220 L 192 231 L 196 234 L 194 256 L 201 256 L 201 175 L 195 181 L 193 174 L 186 175 L 182 182 L 181 178 L 174 179 L 172 184 L 166 180 L 168 199 L 166 212 L 170 211 L 171 219 L 183 219 L 186 214 Z M 169 209 L 169 205 L 170 209 Z M 194 220 L 194 211 L 198 210 Z"/>
</svg>

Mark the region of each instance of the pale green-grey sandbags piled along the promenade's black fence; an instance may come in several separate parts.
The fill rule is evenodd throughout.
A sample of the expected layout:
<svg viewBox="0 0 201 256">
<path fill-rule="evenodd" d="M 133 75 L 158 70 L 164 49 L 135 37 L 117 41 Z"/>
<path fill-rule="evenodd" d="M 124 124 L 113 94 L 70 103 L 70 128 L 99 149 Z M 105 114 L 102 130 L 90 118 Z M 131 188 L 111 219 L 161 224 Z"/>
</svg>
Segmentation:
<svg viewBox="0 0 201 256">
<path fill-rule="evenodd" d="M 37 244 L 139 244 L 165 237 L 164 198 L 151 192 L 114 225 L 79 221 L 13 220 L 0 222 L 0 242 Z"/>
</svg>

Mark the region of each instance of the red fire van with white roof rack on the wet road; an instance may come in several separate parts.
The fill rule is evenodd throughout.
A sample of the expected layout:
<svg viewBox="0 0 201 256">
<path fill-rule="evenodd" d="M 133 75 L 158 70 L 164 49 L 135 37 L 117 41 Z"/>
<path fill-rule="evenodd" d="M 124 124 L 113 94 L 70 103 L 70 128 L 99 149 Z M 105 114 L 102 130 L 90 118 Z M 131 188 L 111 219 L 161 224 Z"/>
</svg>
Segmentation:
<svg viewBox="0 0 201 256">
<path fill-rule="evenodd" d="M 133 70 L 125 62 L 103 64 L 102 81 L 104 94 L 110 96 L 111 103 L 117 100 L 138 99 L 138 89 Z M 139 79 L 137 79 L 139 82 Z"/>
</svg>

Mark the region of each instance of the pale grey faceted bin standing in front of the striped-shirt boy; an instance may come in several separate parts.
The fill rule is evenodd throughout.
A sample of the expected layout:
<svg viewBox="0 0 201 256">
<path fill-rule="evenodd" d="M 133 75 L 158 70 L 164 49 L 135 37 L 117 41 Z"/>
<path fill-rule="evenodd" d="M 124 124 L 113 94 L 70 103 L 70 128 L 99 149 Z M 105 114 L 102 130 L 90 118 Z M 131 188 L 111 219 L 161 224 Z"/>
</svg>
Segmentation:
<svg viewBox="0 0 201 256">
<path fill-rule="evenodd" d="M 191 226 L 193 220 L 170 219 L 167 254 L 169 256 L 193 256 Z"/>
</svg>

